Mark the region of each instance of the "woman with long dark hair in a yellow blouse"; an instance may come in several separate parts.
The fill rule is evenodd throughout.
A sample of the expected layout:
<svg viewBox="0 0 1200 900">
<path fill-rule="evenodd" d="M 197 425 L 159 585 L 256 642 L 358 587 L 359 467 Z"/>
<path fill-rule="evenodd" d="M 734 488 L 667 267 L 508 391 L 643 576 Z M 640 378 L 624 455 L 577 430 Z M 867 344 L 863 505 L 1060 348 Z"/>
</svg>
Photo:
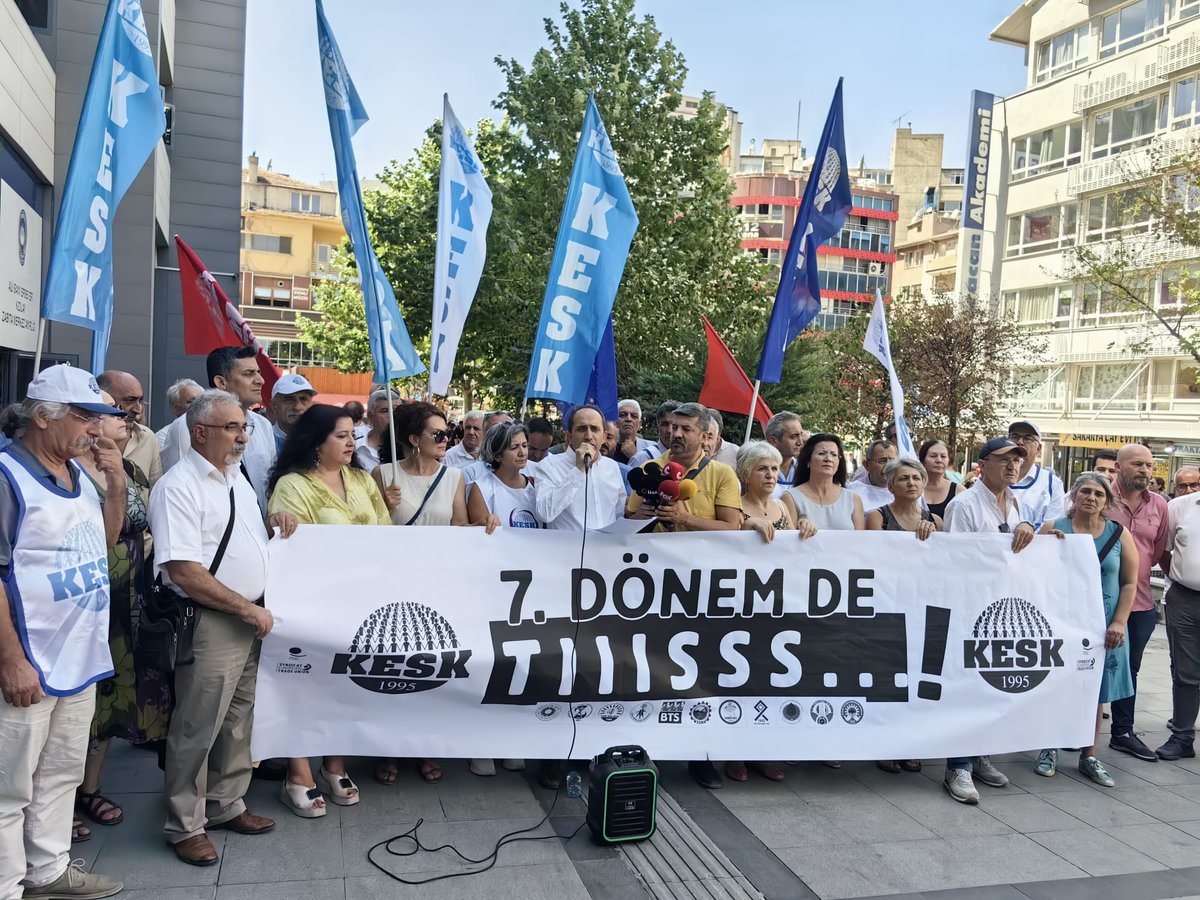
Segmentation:
<svg viewBox="0 0 1200 900">
<path fill-rule="evenodd" d="M 301 524 L 389 524 L 388 508 L 355 454 L 354 420 L 342 407 L 308 407 L 288 432 L 266 487 L 268 512 L 290 512 Z M 307 757 L 288 760 L 280 787 L 284 806 L 301 818 L 319 818 L 326 812 L 323 793 L 338 806 L 359 802 L 344 757 L 326 756 L 316 779 Z"/>
</svg>

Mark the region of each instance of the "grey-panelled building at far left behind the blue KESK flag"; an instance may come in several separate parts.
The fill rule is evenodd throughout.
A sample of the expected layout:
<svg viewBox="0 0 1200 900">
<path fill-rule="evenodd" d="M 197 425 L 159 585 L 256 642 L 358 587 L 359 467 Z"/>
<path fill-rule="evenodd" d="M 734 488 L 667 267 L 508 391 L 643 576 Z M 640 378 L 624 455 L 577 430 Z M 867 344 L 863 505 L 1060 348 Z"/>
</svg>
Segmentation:
<svg viewBox="0 0 1200 900">
<path fill-rule="evenodd" d="M 32 378 L 56 204 L 106 7 L 102 0 L 0 0 L 4 402 L 23 396 Z M 142 380 L 158 422 L 167 415 L 162 394 L 175 378 L 204 380 L 204 360 L 184 354 L 170 238 L 184 236 L 227 292 L 236 290 L 246 10 L 244 0 L 143 0 L 142 10 L 167 132 L 113 218 L 108 365 Z M 10 217 L 16 258 L 5 242 Z M 43 364 L 90 367 L 90 331 L 53 322 L 44 331 Z"/>
</svg>

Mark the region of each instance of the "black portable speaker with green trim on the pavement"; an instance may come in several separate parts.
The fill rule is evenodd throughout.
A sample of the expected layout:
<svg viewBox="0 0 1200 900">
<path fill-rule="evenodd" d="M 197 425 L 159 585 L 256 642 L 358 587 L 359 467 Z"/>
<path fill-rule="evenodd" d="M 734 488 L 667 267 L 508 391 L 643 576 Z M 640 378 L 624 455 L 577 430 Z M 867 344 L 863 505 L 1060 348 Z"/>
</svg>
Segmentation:
<svg viewBox="0 0 1200 900">
<path fill-rule="evenodd" d="M 640 746 L 611 746 L 592 761 L 588 828 L 604 844 L 654 834 L 659 770 Z"/>
</svg>

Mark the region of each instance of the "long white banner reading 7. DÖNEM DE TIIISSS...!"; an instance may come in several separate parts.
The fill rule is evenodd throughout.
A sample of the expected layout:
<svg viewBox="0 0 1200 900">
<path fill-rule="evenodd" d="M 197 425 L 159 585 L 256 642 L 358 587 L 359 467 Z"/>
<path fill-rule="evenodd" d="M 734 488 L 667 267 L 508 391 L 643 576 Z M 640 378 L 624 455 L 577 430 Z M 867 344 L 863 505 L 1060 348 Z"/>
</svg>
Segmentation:
<svg viewBox="0 0 1200 900">
<path fill-rule="evenodd" d="M 568 532 L 302 526 L 271 544 L 253 755 L 1086 746 L 1104 666 L 1094 545 L 1009 541 L 592 533 L 581 568 Z"/>
</svg>

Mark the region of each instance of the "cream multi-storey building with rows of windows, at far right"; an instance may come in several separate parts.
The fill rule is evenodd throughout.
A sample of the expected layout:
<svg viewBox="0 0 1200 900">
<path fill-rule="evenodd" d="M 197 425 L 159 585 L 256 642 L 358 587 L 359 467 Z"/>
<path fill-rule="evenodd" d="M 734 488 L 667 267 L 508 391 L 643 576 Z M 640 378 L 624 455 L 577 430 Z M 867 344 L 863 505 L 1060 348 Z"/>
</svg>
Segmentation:
<svg viewBox="0 0 1200 900">
<path fill-rule="evenodd" d="M 992 119 L 998 302 L 1046 344 L 1014 373 L 1012 412 L 1046 433 L 1067 476 L 1132 439 L 1164 472 L 1195 462 L 1195 360 L 1165 332 L 1147 344 L 1145 313 L 1072 277 L 1072 248 L 1136 246 L 1146 296 L 1168 311 L 1180 272 L 1195 268 L 1200 252 L 1154 239 L 1148 212 L 1120 191 L 1156 154 L 1200 137 L 1200 0 L 1027 0 L 991 38 L 1024 48 L 1027 68 L 1026 88 L 997 100 Z"/>
</svg>

